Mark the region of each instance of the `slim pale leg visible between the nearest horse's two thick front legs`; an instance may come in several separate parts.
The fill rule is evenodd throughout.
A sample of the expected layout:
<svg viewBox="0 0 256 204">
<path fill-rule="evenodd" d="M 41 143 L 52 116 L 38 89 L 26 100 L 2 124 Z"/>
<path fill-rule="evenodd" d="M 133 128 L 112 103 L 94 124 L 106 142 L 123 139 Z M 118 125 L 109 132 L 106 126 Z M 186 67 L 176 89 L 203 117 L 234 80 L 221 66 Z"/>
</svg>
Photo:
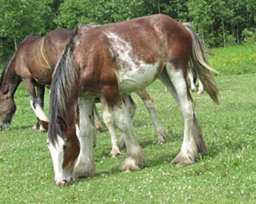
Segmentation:
<svg viewBox="0 0 256 204">
<path fill-rule="evenodd" d="M 109 155 L 111 157 L 115 157 L 115 156 L 121 154 L 121 152 L 120 152 L 120 150 L 118 148 L 118 145 L 117 145 L 118 140 L 117 140 L 117 137 L 116 137 L 116 131 L 114 130 L 113 117 L 112 117 L 112 114 L 110 112 L 110 109 L 108 108 L 108 104 L 105 101 L 105 99 L 102 97 L 100 100 L 101 100 L 102 108 L 103 108 L 103 120 L 104 120 L 104 123 L 107 126 L 108 131 L 109 131 L 110 136 L 111 136 L 112 150 L 109 153 Z"/>
</svg>

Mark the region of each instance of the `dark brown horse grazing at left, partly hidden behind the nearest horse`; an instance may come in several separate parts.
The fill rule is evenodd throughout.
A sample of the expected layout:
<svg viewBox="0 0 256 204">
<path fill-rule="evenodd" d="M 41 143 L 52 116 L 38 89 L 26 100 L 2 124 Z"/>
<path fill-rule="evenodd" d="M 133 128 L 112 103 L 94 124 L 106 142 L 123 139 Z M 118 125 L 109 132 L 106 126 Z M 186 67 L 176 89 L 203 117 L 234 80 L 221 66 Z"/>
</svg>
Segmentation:
<svg viewBox="0 0 256 204">
<path fill-rule="evenodd" d="M 65 44 L 69 29 L 55 29 L 45 36 L 29 35 L 3 68 L 0 78 L 0 127 L 10 123 L 15 113 L 14 93 L 23 82 L 35 114 L 47 120 L 43 111 L 45 86 L 51 84 L 52 73 Z M 37 92 L 35 91 L 37 88 Z M 36 125 L 39 129 L 39 124 Z"/>
</svg>

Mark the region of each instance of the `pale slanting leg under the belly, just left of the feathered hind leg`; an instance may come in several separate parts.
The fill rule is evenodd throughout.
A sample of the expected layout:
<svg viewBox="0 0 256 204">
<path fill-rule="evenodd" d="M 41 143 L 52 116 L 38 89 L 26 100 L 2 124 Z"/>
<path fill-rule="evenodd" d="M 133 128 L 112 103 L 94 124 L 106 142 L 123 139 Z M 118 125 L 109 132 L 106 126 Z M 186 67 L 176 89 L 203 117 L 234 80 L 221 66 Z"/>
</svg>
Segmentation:
<svg viewBox="0 0 256 204">
<path fill-rule="evenodd" d="M 164 142 L 166 132 L 164 131 L 162 125 L 160 124 L 158 118 L 157 118 L 157 111 L 154 105 L 153 98 L 148 94 L 147 90 L 143 89 L 137 92 L 137 94 L 140 96 L 140 98 L 143 100 L 145 107 L 147 108 L 148 112 L 151 115 L 154 129 L 157 133 L 157 138 L 160 142 Z"/>
</svg>

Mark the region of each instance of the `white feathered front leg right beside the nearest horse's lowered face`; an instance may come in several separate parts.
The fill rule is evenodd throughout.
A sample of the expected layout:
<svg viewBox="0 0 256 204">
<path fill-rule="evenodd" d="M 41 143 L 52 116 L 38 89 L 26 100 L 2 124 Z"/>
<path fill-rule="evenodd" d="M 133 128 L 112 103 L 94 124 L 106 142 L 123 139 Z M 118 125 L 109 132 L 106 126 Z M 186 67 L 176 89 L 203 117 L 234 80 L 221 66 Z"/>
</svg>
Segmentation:
<svg viewBox="0 0 256 204">
<path fill-rule="evenodd" d="M 94 99 L 79 98 L 79 141 L 80 153 L 74 167 L 74 177 L 89 177 L 95 173 L 93 158 L 93 138 L 96 134 L 93 126 Z"/>
</svg>

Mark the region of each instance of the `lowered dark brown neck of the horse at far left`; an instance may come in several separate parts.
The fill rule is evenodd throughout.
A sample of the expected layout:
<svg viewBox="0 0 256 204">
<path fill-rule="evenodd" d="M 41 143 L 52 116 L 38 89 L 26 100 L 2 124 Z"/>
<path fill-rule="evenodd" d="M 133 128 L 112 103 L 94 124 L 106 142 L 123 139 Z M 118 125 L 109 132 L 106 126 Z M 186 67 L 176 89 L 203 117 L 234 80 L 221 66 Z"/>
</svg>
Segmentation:
<svg viewBox="0 0 256 204">
<path fill-rule="evenodd" d="M 21 82 L 20 76 L 15 71 L 15 57 L 9 62 L 1 78 L 0 94 L 13 96 Z"/>
</svg>

